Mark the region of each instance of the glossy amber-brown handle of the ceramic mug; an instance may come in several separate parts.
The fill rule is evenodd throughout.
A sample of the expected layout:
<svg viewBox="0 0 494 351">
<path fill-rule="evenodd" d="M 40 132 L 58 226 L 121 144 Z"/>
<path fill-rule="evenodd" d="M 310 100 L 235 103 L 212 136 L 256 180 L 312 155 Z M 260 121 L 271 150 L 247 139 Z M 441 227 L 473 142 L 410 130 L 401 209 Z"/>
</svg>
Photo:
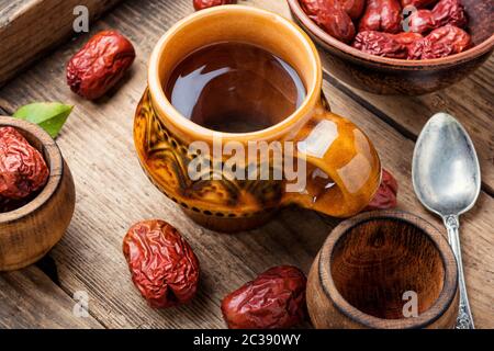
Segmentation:
<svg viewBox="0 0 494 351">
<path fill-rule="evenodd" d="M 329 111 L 324 98 L 295 140 L 306 184 L 285 192 L 285 202 L 333 217 L 352 216 L 371 202 L 381 182 L 378 152 L 361 129 Z"/>
</svg>

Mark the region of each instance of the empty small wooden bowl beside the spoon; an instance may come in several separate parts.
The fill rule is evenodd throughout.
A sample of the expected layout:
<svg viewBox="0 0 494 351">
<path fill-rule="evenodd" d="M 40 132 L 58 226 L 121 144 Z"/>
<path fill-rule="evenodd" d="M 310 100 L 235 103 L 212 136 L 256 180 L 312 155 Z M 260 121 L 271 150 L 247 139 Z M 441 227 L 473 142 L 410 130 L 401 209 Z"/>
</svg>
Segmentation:
<svg viewBox="0 0 494 351">
<path fill-rule="evenodd" d="M 373 212 L 329 235 L 308 274 L 307 306 L 322 329 L 452 328 L 457 285 L 453 252 L 434 226 Z"/>
</svg>

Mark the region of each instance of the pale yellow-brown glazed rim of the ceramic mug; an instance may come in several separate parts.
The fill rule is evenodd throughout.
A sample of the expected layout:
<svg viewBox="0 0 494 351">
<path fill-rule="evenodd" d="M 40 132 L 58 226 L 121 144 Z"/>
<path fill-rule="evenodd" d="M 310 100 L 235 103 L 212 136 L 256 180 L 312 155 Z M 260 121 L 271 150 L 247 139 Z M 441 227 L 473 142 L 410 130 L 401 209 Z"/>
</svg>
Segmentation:
<svg viewBox="0 0 494 351">
<path fill-rule="evenodd" d="M 243 14 L 247 13 L 250 15 L 269 16 L 271 18 L 272 21 L 281 23 L 287 31 L 290 31 L 292 34 L 294 34 L 299 38 L 300 44 L 305 47 L 306 57 L 308 58 L 308 61 L 311 63 L 312 66 L 311 69 L 312 77 L 307 77 L 306 80 L 312 82 L 312 84 L 311 87 L 305 87 L 306 97 L 302 102 L 302 104 L 295 111 L 293 111 L 292 114 L 290 114 L 279 123 L 269 126 L 268 128 L 249 133 L 224 133 L 214 129 L 209 129 L 190 121 L 189 118 L 184 117 L 180 112 L 178 112 L 173 107 L 171 102 L 168 100 L 162 89 L 161 79 L 159 75 L 160 72 L 159 64 L 161 61 L 161 57 L 166 53 L 166 46 L 168 42 L 175 35 L 177 35 L 177 33 L 183 30 L 184 26 L 191 24 L 192 22 L 215 15 L 217 13 L 225 13 L 225 12 L 232 13 L 232 15 L 238 13 Z M 197 49 L 199 48 L 200 47 L 198 47 Z M 299 71 L 297 73 L 300 75 Z M 153 101 L 153 106 L 154 109 L 157 110 L 157 115 L 160 118 L 161 115 L 168 116 L 166 121 L 167 124 L 172 124 L 173 127 L 181 129 L 186 134 L 192 135 L 197 139 L 213 139 L 217 136 L 221 136 L 226 141 L 259 140 L 270 138 L 273 135 L 278 135 L 281 131 L 288 131 L 290 126 L 297 123 L 300 118 L 307 115 L 313 110 L 313 106 L 317 102 L 318 95 L 321 93 L 322 82 L 323 82 L 323 71 L 318 52 L 313 41 L 301 27 L 299 27 L 294 22 L 284 19 L 283 16 L 276 14 L 273 12 L 239 4 L 213 7 L 210 9 L 201 10 L 177 22 L 161 36 L 161 38 L 156 44 L 149 59 L 149 69 L 148 69 L 149 92 Z"/>
</svg>

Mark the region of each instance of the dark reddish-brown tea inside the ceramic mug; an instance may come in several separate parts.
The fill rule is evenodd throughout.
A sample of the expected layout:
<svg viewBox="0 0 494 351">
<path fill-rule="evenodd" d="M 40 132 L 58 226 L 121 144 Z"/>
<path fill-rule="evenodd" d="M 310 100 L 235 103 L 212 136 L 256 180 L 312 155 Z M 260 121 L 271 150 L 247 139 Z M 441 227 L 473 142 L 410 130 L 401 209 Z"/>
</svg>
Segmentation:
<svg viewBox="0 0 494 351">
<path fill-rule="evenodd" d="M 183 116 L 226 133 L 266 129 L 291 115 L 306 95 L 292 66 L 244 43 L 195 50 L 173 69 L 164 88 Z"/>
</svg>

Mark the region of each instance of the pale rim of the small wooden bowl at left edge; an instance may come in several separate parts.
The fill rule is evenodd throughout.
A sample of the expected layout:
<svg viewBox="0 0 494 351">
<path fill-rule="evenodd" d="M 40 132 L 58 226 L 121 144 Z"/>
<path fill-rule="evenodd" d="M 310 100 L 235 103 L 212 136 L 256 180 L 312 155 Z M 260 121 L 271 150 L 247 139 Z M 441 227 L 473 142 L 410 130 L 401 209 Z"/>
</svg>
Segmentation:
<svg viewBox="0 0 494 351">
<path fill-rule="evenodd" d="M 0 213 L 0 224 L 19 220 L 25 216 L 33 214 L 40 207 L 42 207 L 53 196 L 53 194 L 60 185 L 61 176 L 64 172 L 64 161 L 60 149 L 58 148 L 55 140 L 49 136 L 49 134 L 46 133 L 42 127 L 27 121 L 8 116 L 0 116 L 0 127 L 4 126 L 11 126 L 24 133 L 27 133 L 41 143 L 43 149 L 41 149 L 40 151 L 45 158 L 46 156 L 48 157 L 48 160 L 45 159 L 45 162 L 49 165 L 49 177 L 42 192 L 31 202 L 14 211 Z"/>
</svg>

